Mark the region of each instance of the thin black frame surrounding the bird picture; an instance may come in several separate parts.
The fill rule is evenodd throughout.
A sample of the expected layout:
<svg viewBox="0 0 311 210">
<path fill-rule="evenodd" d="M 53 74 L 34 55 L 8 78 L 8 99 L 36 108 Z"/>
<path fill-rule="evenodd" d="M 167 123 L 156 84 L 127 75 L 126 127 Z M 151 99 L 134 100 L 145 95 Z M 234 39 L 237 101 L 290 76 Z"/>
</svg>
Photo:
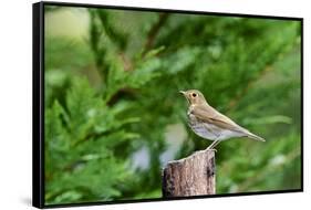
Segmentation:
<svg viewBox="0 0 311 210">
<path fill-rule="evenodd" d="M 61 7 L 83 7 L 83 8 L 103 8 L 131 11 L 154 11 L 154 12 L 173 12 L 173 13 L 189 13 L 189 14 L 212 14 L 221 17 L 242 17 L 257 19 L 274 19 L 274 20 L 293 20 L 301 24 L 301 188 L 294 190 L 274 190 L 260 192 L 242 192 L 242 193 L 225 193 L 214 196 L 196 196 L 172 199 L 141 199 L 141 200 L 118 200 L 118 201 L 99 201 L 83 202 L 71 204 L 45 204 L 44 203 L 44 7 L 61 6 Z M 214 197 L 236 197 L 250 195 L 268 195 L 283 192 L 301 192 L 303 191 L 303 19 L 291 17 L 273 17 L 258 14 L 240 14 L 240 13 L 221 13 L 207 11 L 184 11 L 173 9 L 156 9 L 156 8 L 133 8 L 133 7 L 115 7 L 87 3 L 66 3 L 44 1 L 32 4 L 32 65 L 33 65 L 33 83 L 32 83 L 32 204 L 37 208 L 56 208 L 56 207 L 80 207 L 94 204 L 110 203 L 129 203 L 129 202 L 146 202 L 146 201 L 163 201 L 163 200 L 179 200 L 179 199 L 198 199 Z"/>
</svg>

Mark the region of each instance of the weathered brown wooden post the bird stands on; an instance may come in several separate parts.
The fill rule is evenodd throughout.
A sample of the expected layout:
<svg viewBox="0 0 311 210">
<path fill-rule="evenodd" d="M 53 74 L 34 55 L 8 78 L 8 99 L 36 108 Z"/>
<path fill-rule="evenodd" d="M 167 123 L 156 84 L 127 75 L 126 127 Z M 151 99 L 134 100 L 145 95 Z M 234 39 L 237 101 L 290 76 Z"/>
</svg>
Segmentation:
<svg viewBox="0 0 311 210">
<path fill-rule="evenodd" d="M 162 174 L 164 198 L 215 195 L 215 151 L 196 151 L 167 164 Z"/>
</svg>

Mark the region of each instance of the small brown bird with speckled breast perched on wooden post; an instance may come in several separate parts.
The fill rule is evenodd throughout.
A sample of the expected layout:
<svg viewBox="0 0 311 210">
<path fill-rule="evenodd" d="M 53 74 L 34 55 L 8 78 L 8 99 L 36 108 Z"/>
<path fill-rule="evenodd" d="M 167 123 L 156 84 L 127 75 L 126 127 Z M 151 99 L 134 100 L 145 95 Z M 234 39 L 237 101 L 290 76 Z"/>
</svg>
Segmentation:
<svg viewBox="0 0 311 210">
<path fill-rule="evenodd" d="M 189 127 L 199 137 L 212 140 L 206 150 L 216 150 L 215 147 L 220 141 L 235 137 L 266 141 L 211 107 L 198 90 L 179 91 L 179 93 L 188 101 L 187 116 Z"/>
</svg>

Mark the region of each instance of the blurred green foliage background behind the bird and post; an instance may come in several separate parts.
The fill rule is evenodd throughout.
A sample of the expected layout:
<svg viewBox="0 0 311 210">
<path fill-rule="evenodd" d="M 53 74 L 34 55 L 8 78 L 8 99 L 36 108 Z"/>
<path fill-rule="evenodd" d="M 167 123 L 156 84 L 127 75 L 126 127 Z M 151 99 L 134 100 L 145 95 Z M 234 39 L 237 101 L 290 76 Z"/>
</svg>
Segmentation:
<svg viewBox="0 0 311 210">
<path fill-rule="evenodd" d="M 45 203 L 162 197 L 205 149 L 179 90 L 267 139 L 217 149 L 217 193 L 301 188 L 301 23 L 45 6 Z"/>
</svg>

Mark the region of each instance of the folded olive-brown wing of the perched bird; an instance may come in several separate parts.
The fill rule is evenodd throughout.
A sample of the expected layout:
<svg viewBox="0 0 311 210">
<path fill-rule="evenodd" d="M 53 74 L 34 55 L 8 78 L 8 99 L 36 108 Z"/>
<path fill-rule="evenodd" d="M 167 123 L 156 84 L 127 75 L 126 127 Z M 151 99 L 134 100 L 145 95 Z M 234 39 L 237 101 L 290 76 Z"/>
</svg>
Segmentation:
<svg viewBox="0 0 311 210">
<path fill-rule="evenodd" d="M 191 114 L 195 115 L 200 120 L 206 123 L 212 123 L 220 128 L 231 129 L 242 133 L 247 132 L 247 129 L 242 128 L 234 120 L 226 117 L 225 115 L 222 115 L 221 113 L 219 113 L 218 111 L 216 111 L 209 105 L 196 105 L 191 109 Z"/>
</svg>

